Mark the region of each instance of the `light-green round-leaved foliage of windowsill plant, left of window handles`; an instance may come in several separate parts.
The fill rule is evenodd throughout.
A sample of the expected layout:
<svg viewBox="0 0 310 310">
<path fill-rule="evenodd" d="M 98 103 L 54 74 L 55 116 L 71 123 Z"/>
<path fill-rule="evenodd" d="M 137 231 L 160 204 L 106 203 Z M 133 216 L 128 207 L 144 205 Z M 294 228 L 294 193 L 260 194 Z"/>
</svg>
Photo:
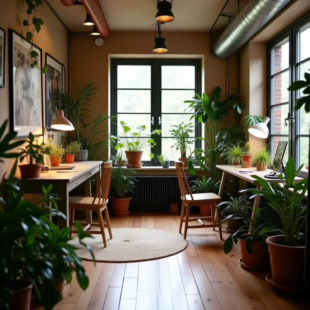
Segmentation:
<svg viewBox="0 0 310 310">
<path fill-rule="evenodd" d="M 124 148 L 126 151 L 142 151 L 147 149 L 149 145 L 153 148 L 156 145 L 155 140 L 152 138 L 152 135 L 160 135 L 162 133 L 161 129 L 155 129 L 150 134 L 144 134 L 146 129 L 145 125 L 140 125 L 137 127 L 139 132 L 131 132 L 131 128 L 126 125 L 124 121 L 120 121 L 122 131 L 119 131 L 121 135 L 110 136 L 112 143 L 117 144 L 114 146 L 116 150 L 121 150 Z M 153 158 L 154 154 L 150 152 L 150 158 Z"/>
</svg>

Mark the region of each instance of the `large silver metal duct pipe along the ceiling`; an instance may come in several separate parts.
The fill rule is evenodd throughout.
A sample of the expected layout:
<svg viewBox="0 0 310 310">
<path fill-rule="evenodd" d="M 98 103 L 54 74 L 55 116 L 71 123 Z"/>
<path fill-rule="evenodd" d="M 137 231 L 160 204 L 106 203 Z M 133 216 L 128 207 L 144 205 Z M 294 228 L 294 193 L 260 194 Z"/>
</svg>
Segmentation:
<svg viewBox="0 0 310 310">
<path fill-rule="evenodd" d="M 226 58 L 279 12 L 290 0 L 248 0 L 214 45 L 214 53 Z"/>
</svg>

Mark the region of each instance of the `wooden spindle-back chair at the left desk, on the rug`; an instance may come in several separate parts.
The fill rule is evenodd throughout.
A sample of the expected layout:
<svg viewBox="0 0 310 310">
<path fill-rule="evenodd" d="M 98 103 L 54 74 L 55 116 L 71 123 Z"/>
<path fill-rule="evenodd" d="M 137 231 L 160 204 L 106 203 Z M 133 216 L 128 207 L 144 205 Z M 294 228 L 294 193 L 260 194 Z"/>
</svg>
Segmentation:
<svg viewBox="0 0 310 310">
<path fill-rule="evenodd" d="M 112 239 L 112 231 L 110 226 L 110 219 L 109 214 L 107 210 L 107 203 L 108 203 L 108 193 L 110 188 L 110 181 L 111 181 L 111 172 L 112 172 L 112 162 L 104 162 L 102 164 L 102 175 L 100 178 L 100 182 L 98 184 L 95 197 L 69 197 L 69 210 L 70 210 L 70 218 L 69 218 L 69 226 L 73 229 L 73 218 L 74 218 L 74 210 L 80 209 L 80 210 L 94 210 L 98 214 L 99 224 L 97 223 L 81 223 L 82 225 L 91 225 L 100 227 L 100 231 L 86 231 L 87 233 L 91 234 L 101 234 L 104 247 L 107 246 L 107 241 L 105 238 L 105 232 L 104 232 L 104 224 L 103 224 L 103 218 L 101 212 L 104 210 L 104 216 L 105 220 L 107 222 L 106 226 L 108 227 L 108 232 L 110 239 Z M 70 233 L 70 236 L 72 233 L 76 233 L 76 230 L 72 230 Z"/>
</svg>

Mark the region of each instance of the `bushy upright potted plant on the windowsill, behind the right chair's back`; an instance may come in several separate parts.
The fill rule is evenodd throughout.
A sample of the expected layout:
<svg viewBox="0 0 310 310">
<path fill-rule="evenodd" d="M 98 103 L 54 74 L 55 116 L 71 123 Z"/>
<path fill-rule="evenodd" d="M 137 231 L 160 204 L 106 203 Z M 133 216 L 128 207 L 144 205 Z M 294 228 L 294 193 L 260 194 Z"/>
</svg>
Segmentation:
<svg viewBox="0 0 310 310">
<path fill-rule="evenodd" d="M 175 127 L 175 129 L 169 130 L 171 132 L 171 135 L 175 138 L 176 143 L 171 146 L 171 148 L 176 148 L 177 150 L 180 150 L 181 157 L 179 157 L 179 161 L 184 163 L 184 167 L 187 167 L 187 149 L 188 144 L 193 144 L 193 139 L 190 138 L 190 134 L 195 131 L 195 127 L 192 125 L 192 123 L 184 124 L 182 122 L 179 125 L 171 125 L 171 127 Z"/>
</svg>

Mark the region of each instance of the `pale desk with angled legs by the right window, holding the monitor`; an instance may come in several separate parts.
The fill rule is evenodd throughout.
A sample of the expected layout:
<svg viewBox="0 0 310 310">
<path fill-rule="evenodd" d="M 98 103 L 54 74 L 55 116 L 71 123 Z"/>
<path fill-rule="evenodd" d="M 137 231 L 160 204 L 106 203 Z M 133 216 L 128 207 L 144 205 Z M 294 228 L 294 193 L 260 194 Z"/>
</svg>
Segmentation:
<svg viewBox="0 0 310 310">
<path fill-rule="evenodd" d="M 230 166 L 230 165 L 217 165 L 216 166 L 219 170 L 223 170 L 223 175 L 222 175 L 222 181 L 221 181 L 221 185 L 219 187 L 219 197 L 222 197 L 223 194 L 223 189 L 224 189 L 224 185 L 225 185 L 225 180 L 226 180 L 226 175 L 227 173 L 234 175 L 240 179 L 243 179 L 247 182 L 250 182 L 252 184 L 256 185 L 257 189 L 262 189 L 261 185 L 259 184 L 258 180 L 254 179 L 251 177 L 251 175 L 258 175 L 259 177 L 265 179 L 266 181 L 268 181 L 271 184 L 276 184 L 276 183 L 282 183 L 281 179 L 268 179 L 265 178 L 264 175 L 267 175 L 271 170 L 266 170 L 266 171 L 257 171 L 256 167 L 252 167 L 252 168 L 240 168 L 240 166 Z M 252 172 L 246 173 L 246 174 L 241 174 L 236 170 L 251 170 Z M 296 177 L 294 179 L 294 182 L 298 182 L 302 180 L 302 178 Z M 259 201 L 260 201 L 260 196 L 257 195 L 255 197 L 254 200 L 254 205 L 253 208 L 256 209 L 259 207 Z M 255 220 L 255 211 L 253 210 L 252 212 L 252 218 Z"/>
</svg>

